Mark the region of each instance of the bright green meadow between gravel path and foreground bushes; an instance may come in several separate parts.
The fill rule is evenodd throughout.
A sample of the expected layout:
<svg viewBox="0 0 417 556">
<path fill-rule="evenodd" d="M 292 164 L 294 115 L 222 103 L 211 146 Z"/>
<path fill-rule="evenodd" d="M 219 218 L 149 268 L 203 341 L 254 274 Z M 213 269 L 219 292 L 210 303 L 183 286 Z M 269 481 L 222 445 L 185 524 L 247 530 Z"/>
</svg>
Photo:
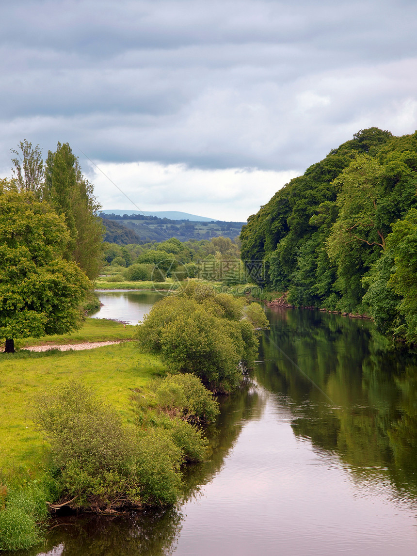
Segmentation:
<svg viewBox="0 0 417 556">
<path fill-rule="evenodd" d="M 69 379 L 81 380 L 129 421 L 135 389 L 165 371 L 159 359 L 140 354 L 136 342 L 83 351 L 0 355 L 0 474 L 21 469 L 36 478 L 42 473 L 45 442 L 30 416 L 36 393 Z"/>
</svg>

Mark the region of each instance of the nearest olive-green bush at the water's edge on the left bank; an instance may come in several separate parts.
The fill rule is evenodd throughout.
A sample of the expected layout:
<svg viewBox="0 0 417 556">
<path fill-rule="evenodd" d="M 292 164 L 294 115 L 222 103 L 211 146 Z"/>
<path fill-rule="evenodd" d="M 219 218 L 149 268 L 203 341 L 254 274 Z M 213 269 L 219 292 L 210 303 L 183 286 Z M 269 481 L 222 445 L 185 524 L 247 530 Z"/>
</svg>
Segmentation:
<svg viewBox="0 0 417 556">
<path fill-rule="evenodd" d="M 34 421 L 46 433 L 57 481 L 76 508 L 172 504 L 181 450 L 169 438 L 138 434 L 76 381 L 37 396 Z M 162 451 L 155 451 L 155 446 Z M 150 482 L 147 477 L 151 477 Z"/>
</svg>

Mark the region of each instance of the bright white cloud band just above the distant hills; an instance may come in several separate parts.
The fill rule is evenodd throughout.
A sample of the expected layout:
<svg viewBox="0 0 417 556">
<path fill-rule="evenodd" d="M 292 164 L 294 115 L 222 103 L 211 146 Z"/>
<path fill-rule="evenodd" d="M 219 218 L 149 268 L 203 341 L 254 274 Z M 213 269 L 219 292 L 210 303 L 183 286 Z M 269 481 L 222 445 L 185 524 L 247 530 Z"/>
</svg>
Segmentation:
<svg viewBox="0 0 417 556">
<path fill-rule="evenodd" d="M 98 168 L 129 197 L 128 201 L 103 173 L 90 163 L 88 177 L 103 209 L 179 210 L 218 220 L 245 222 L 295 171 L 254 169 L 201 170 L 182 164 L 155 162 L 105 163 Z M 135 203 L 135 205 L 133 205 Z"/>
</svg>

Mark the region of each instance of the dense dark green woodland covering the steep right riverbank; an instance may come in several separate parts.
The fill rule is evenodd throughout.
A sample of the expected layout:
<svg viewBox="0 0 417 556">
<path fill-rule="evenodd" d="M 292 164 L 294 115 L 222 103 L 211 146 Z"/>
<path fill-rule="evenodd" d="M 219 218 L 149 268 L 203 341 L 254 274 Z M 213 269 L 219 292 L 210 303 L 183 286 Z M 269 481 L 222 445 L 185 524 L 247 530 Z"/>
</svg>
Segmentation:
<svg viewBox="0 0 417 556">
<path fill-rule="evenodd" d="M 416 171 L 417 132 L 359 131 L 249 217 L 252 279 L 290 305 L 370 316 L 415 343 Z"/>
</svg>

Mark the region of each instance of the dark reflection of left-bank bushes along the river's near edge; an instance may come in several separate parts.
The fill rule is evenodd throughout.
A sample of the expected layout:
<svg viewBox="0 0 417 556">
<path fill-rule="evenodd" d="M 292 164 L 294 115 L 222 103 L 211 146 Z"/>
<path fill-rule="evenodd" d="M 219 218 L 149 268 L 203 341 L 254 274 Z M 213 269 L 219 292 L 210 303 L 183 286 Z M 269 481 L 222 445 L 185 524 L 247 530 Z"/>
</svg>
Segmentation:
<svg viewBox="0 0 417 556">
<path fill-rule="evenodd" d="M 249 419 L 259 418 L 264 401 L 249 382 L 236 394 L 221 400 L 215 424 L 207 426 L 210 453 L 207 461 L 185 468 L 184 500 L 198 492 L 221 469 L 224 458 L 235 444 Z M 177 508 L 142 510 L 117 517 L 92 513 L 59 517 L 41 549 L 13 553 L 16 556 L 167 556 L 175 550 L 181 533 L 182 513 Z"/>
</svg>

